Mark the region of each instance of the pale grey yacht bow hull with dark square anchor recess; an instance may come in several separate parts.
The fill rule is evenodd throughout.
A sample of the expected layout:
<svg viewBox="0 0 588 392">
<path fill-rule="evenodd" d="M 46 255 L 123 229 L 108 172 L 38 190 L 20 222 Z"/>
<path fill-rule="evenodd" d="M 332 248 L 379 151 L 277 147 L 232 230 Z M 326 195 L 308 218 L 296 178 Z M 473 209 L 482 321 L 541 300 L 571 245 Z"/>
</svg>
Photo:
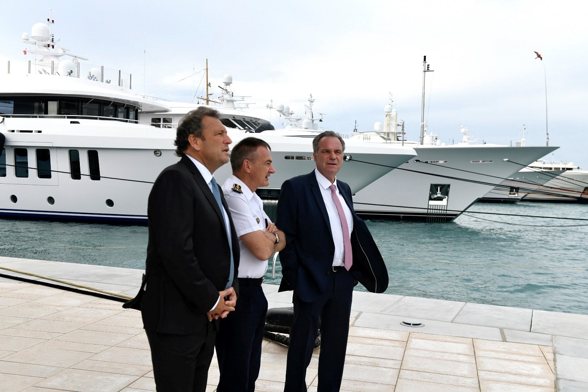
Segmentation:
<svg viewBox="0 0 588 392">
<path fill-rule="evenodd" d="M 557 147 L 418 146 L 417 157 L 353 196 L 364 219 L 450 222 Z"/>
</svg>

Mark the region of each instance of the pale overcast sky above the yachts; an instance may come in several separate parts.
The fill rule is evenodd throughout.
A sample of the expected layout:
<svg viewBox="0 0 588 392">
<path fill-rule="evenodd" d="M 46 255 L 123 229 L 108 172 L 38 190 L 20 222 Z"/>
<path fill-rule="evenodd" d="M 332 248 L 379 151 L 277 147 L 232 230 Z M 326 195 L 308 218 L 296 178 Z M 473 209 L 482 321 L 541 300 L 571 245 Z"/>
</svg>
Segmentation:
<svg viewBox="0 0 588 392">
<path fill-rule="evenodd" d="M 35 8 L 32 9 L 32 4 Z M 560 146 L 548 159 L 588 168 L 588 24 L 581 1 L 111 1 L 2 2 L 0 60 L 24 60 L 24 32 L 46 21 L 59 45 L 87 63 L 132 73 L 137 93 L 191 102 L 202 72 L 218 95 L 303 115 L 312 93 L 326 129 L 383 122 L 392 93 L 407 137 L 419 137 L 422 61 L 425 120 L 445 143 L 460 125 L 480 141 Z M 541 53 L 543 61 L 536 59 Z M 5 67 L 6 65 L 1 65 Z M 181 81 L 183 79 L 183 81 Z"/>
</svg>

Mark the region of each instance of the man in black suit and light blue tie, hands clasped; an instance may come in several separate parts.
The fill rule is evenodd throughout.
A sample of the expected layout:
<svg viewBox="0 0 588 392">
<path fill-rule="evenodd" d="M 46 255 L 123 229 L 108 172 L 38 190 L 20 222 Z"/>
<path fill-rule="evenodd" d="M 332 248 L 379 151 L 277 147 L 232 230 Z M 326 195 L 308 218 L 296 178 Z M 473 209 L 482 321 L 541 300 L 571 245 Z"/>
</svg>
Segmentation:
<svg viewBox="0 0 588 392">
<path fill-rule="evenodd" d="M 141 313 L 158 392 L 205 391 L 218 319 L 235 310 L 239 242 L 212 175 L 230 143 L 216 110 L 192 110 L 177 130 L 181 160 L 149 195 Z"/>
</svg>

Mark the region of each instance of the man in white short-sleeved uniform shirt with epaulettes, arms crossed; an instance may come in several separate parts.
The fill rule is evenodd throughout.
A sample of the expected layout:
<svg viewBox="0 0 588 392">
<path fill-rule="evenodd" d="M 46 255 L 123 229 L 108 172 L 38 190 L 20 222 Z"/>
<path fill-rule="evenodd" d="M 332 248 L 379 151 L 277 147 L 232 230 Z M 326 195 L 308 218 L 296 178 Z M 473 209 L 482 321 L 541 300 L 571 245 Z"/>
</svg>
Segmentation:
<svg viewBox="0 0 588 392">
<path fill-rule="evenodd" d="M 258 187 L 269 185 L 270 147 L 264 140 L 245 138 L 232 150 L 233 175 L 222 186 L 239 237 L 239 301 L 235 311 L 220 321 L 216 356 L 218 392 L 253 392 L 259 375 L 261 344 L 268 301 L 261 283 L 268 259 L 283 249 L 286 239 L 263 211 Z"/>
</svg>

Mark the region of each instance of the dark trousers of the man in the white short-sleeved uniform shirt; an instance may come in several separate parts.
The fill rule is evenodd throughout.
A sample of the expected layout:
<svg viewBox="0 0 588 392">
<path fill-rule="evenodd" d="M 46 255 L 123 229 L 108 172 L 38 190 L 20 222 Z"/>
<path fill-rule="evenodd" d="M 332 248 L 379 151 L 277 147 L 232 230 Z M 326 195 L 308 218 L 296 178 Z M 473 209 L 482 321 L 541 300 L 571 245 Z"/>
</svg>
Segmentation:
<svg viewBox="0 0 588 392">
<path fill-rule="evenodd" d="M 220 371 L 217 392 L 255 391 L 267 313 L 268 300 L 262 287 L 243 284 L 239 279 L 235 311 L 220 320 L 216 336 Z"/>
</svg>

